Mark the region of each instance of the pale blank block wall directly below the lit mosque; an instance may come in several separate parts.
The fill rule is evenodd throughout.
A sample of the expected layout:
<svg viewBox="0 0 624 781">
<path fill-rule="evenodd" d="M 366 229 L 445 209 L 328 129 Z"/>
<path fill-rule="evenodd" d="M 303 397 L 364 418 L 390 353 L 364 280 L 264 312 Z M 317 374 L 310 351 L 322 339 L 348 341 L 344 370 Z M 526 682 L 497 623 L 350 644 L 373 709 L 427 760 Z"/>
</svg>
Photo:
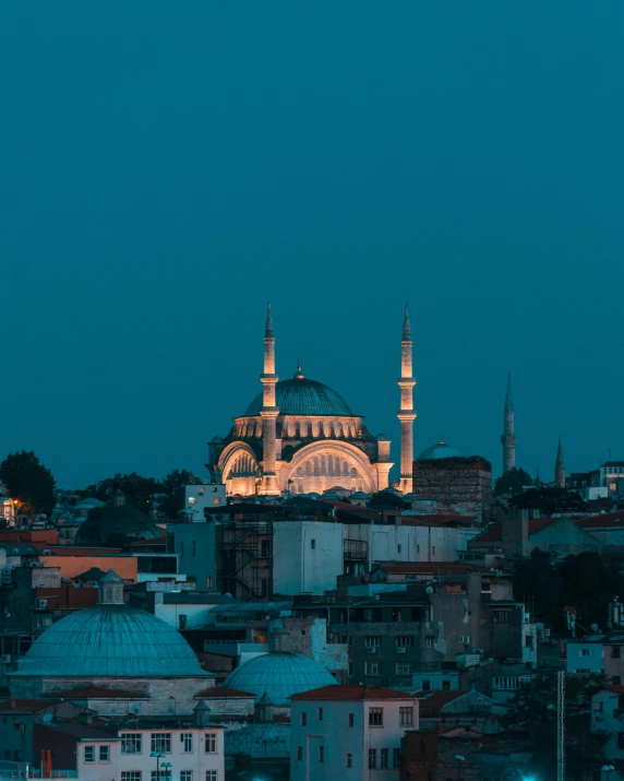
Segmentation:
<svg viewBox="0 0 624 781">
<path fill-rule="evenodd" d="M 343 524 L 277 522 L 273 536 L 276 594 L 322 594 L 343 572 Z"/>
</svg>

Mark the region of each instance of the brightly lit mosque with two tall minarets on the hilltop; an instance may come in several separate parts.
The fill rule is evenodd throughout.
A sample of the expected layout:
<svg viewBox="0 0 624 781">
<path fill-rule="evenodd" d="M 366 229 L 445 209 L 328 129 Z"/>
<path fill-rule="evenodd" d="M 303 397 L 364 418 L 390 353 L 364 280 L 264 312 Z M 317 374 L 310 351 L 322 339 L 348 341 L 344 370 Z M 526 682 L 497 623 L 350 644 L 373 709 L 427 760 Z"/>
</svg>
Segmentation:
<svg viewBox="0 0 624 781">
<path fill-rule="evenodd" d="M 400 478 L 411 490 L 413 458 L 412 341 L 407 306 L 401 336 Z M 243 415 L 233 418 L 227 437 L 209 442 L 207 464 L 228 496 L 319 494 L 340 487 L 374 494 L 388 487 L 391 442 L 373 436 L 363 417 L 335 390 L 307 378 L 301 364 L 291 379 L 279 380 L 271 304 L 264 331 L 262 392 Z"/>
</svg>

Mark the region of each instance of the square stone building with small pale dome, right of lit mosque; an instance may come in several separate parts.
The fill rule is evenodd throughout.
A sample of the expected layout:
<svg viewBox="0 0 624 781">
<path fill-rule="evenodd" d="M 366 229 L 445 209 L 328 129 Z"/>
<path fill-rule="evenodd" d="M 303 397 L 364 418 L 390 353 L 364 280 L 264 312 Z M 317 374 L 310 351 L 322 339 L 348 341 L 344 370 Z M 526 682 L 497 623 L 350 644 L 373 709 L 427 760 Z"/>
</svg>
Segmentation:
<svg viewBox="0 0 624 781">
<path fill-rule="evenodd" d="M 492 465 L 440 441 L 413 462 L 411 505 L 416 513 L 458 512 L 487 521 L 492 505 Z"/>
</svg>

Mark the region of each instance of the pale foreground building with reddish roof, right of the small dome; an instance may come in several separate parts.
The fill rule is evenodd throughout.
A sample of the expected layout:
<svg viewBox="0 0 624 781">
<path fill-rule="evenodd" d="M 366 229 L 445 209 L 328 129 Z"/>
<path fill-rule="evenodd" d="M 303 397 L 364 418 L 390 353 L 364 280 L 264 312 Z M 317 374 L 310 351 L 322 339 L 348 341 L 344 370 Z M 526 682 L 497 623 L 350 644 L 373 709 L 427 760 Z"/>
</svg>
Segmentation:
<svg viewBox="0 0 624 781">
<path fill-rule="evenodd" d="M 382 686 L 324 686 L 290 698 L 290 778 L 398 780 L 400 739 L 418 700 Z"/>
</svg>

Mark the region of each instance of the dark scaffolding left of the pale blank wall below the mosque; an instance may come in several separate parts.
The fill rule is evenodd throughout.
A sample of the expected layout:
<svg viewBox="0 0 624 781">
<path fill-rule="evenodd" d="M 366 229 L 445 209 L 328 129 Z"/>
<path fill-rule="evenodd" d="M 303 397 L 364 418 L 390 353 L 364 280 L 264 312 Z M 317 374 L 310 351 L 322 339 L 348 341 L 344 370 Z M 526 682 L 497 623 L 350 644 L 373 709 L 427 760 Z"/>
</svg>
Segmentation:
<svg viewBox="0 0 624 781">
<path fill-rule="evenodd" d="M 245 602 L 273 596 L 273 521 L 220 521 L 216 529 L 217 584 Z"/>
</svg>

